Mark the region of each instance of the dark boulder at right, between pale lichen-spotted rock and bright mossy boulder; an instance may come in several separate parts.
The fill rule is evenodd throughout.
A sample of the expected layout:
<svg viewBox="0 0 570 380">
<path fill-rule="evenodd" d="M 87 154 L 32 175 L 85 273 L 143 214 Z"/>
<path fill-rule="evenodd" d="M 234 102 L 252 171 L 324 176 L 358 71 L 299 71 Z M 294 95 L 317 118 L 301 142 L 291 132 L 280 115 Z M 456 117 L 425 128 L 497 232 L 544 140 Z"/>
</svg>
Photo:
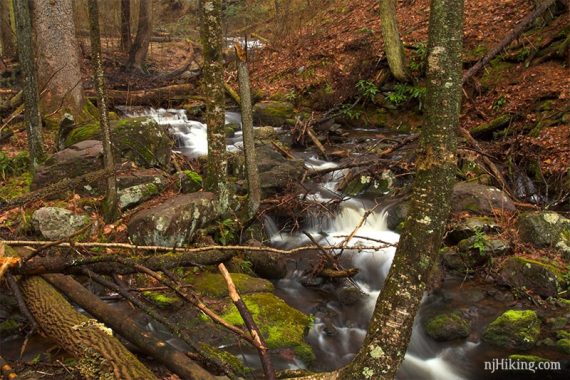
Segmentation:
<svg viewBox="0 0 570 380">
<path fill-rule="evenodd" d="M 556 297 L 562 272 L 552 264 L 517 256 L 505 260 L 500 277 L 512 288 L 525 288 L 543 297 Z"/>
</svg>

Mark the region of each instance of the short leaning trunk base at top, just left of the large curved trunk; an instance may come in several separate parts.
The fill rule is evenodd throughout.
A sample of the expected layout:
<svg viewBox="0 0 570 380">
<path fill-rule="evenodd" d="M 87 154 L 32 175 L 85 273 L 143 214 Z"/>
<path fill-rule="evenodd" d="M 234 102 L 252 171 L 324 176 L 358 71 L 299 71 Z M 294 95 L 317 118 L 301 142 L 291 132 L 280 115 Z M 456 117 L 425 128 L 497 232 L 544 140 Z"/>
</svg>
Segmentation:
<svg viewBox="0 0 570 380">
<path fill-rule="evenodd" d="M 396 19 L 396 0 L 380 1 L 380 20 L 382 23 L 382 38 L 388 66 L 394 78 L 405 81 L 408 78 L 404 46 L 400 39 L 398 20 Z"/>
</svg>

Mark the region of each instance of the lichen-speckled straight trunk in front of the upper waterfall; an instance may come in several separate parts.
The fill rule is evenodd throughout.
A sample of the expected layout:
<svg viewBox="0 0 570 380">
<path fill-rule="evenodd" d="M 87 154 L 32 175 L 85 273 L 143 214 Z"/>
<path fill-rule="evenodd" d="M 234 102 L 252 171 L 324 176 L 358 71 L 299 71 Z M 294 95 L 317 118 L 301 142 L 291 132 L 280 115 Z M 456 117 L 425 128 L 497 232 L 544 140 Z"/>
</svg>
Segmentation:
<svg viewBox="0 0 570 380">
<path fill-rule="evenodd" d="M 200 1 L 200 27 L 204 54 L 204 86 L 206 88 L 206 124 L 208 126 L 208 164 L 205 189 L 218 197 L 220 211 L 228 209 L 224 58 L 222 56 L 222 0 Z"/>
</svg>

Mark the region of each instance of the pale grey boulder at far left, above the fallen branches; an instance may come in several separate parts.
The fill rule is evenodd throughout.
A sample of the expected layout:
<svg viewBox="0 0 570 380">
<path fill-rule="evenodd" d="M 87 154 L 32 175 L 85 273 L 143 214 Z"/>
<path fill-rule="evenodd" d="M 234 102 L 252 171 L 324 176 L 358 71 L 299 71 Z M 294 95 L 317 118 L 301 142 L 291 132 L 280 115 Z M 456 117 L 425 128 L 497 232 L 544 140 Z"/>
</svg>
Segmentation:
<svg viewBox="0 0 570 380">
<path fill-rule="evenodd" d="M 88 217 L 59 207 L 42 207 L 32 214 L 34 229 L 48 240 L 68 238 L 88 222 Z"/>
</svg>

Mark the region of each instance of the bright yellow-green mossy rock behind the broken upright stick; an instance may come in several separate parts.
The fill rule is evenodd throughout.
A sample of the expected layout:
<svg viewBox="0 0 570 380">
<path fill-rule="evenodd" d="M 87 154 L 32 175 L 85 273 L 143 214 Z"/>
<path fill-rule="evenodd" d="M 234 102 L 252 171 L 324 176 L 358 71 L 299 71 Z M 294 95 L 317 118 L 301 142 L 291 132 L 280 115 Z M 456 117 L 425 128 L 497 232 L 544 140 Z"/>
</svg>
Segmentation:
<svg viewBox="0 0 570 380">
<path fill-rule="evenodd" d="M 313 350 L 304 341 L 311 324 L 309 316 L 271 293 L 248 294 L 243 296 L 243 300 L 270 349 L 292 348 L 303 362 L 313 362 Z M 236 326 L 244 324 L 234 305 L 225 309 L 222 318 Z"/>
</svg>

